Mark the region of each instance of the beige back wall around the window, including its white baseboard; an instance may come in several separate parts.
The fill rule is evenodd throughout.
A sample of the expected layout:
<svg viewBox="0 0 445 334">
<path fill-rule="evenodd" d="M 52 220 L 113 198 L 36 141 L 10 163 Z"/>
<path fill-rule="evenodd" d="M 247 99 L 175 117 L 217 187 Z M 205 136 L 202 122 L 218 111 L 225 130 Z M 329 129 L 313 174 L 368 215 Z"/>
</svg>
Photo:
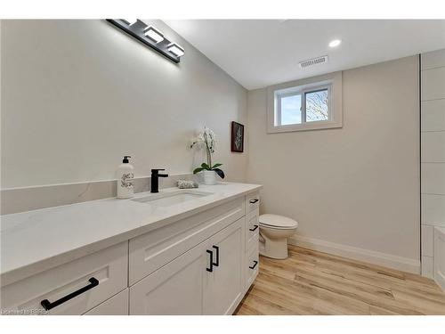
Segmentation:
<svg viewBox="0 0 445 334">
<path fill-rule="evenodd" d="M 266 134 L 266 89 L 249 92 L 262 212 L 297 220 L 304 246 L 417 272 L 418 95 L 417 56 L 346 70 L 343 128 Z"/>
</svg>

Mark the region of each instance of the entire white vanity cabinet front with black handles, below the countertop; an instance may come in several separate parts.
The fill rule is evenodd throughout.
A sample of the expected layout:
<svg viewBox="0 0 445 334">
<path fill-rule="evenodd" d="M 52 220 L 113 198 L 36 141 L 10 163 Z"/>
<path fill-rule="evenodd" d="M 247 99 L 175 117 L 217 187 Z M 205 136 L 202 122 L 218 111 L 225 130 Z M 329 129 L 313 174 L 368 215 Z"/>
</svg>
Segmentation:
<svg viewBox="0 0 445 334">
<path fill-rule="evenodd" d="M 232 314 L 258 273 L 258 206 L 257 192 L 239 194 L 12 281 L 1 288 L 2 309 L 9 314 Z"/>
</svg>

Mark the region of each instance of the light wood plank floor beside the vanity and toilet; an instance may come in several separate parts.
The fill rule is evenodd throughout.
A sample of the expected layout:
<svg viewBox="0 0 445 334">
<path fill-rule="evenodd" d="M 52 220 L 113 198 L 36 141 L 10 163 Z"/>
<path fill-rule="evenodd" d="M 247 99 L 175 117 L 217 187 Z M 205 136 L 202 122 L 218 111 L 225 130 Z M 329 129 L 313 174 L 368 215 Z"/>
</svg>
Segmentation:
<svg viewBox="0 0 445 334">
<path fill-rule="evenodd" d="M 235 314 L 445 314 L 432 280 L 289 246 L 286 260 L 260 257 Z"/>
</svg>

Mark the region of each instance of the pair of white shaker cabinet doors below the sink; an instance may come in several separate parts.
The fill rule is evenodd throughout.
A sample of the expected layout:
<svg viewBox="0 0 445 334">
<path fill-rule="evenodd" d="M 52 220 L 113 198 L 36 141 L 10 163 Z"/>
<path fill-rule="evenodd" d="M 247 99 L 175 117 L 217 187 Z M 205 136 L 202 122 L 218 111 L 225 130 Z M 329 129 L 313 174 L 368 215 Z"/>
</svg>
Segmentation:
<svg viewBox="0 0 445 334">
<path fill-rule="evenodd" d="M 130 288 L 130 314 L 230 314 L 243 293 L 244 219 Z"/>
</svg>

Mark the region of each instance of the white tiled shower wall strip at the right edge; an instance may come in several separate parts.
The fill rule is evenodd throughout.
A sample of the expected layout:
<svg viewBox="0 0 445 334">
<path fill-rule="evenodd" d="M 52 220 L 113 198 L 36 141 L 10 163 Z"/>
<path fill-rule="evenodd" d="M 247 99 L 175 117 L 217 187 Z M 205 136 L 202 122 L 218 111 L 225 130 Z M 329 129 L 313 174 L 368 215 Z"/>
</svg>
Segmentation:
<svg viewBox="0 0 445 334">
<path fill-rule="evenodd" d="M 445 226 L 445 50 L 421 60 L 422 274 L 433 277 L 434 226 Z"/>
</svg>

